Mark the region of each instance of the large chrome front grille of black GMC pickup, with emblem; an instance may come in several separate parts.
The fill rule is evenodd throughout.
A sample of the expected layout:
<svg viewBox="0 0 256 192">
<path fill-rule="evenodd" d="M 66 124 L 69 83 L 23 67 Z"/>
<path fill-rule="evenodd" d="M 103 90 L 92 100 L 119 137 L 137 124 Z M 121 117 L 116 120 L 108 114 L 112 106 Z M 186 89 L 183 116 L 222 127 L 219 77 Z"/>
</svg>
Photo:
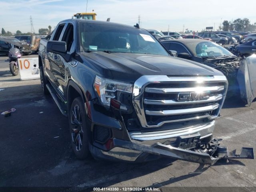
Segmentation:
<svg viewBox="0 0 256 192">
<path fill-rule="evenodd" d="M 142 76 L 134 84 L 133 104 L 144 128 L 219 115 L 226 96 L 225 76 Z"/>
</svg>

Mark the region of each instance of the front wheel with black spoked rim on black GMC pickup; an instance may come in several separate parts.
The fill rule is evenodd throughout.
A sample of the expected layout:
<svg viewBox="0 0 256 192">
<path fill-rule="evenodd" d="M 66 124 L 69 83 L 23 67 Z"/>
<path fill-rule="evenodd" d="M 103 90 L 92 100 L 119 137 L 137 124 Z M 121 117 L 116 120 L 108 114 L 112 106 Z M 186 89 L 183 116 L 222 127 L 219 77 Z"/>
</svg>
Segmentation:
<svg viewBox="0 0 256 192">
<path fill-rule="evenodd" d="M 81 97 L 77 97 L 72 102 L 69 116 L 69 130 L 71 145 L 76 158 L 86 159 L 89 155 L 88 134 L 86 129 L 86 113 Z"/>
</svg>

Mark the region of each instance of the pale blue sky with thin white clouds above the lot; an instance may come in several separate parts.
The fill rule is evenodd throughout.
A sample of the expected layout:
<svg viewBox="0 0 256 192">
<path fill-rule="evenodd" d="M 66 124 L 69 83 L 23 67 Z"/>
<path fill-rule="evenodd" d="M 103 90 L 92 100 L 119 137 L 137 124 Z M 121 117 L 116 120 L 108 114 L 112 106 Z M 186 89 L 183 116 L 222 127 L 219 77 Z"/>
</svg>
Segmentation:
<svg viewBox="0 0 256 192">
<path fill-rule="evenodd" d="M 0 0 L 0 28 L 15 33 L 30 32 L 30 16 L 34 30 L 56 26 L 73 14 L 86 12 L 87 0 Z M 87 12 L 97 14 L 96 20 L 134 25 L 140 15 L 141 27 L 181 32 L 201 31 L 221 21 L 248 18 L 256 22 L 256 0 L 241 7 L 241 0 L 88 0 Z M 242 3 L 243 4 L 243 3 Z"/>
</svg>

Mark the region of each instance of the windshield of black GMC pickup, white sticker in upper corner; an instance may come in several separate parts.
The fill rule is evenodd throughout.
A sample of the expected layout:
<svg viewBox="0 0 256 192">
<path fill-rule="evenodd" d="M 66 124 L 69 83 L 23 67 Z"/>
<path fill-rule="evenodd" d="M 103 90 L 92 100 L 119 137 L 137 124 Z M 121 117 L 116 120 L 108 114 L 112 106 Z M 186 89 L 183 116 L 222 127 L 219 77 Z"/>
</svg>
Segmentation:
<svg viewBox="0 0 256 192">
<path fill-rule="evenodd" d="M 168 52 L 146 30 L 110 24 L 79 24 L 83 51 L 109 51 L 168 55 Z"/>
</svg>

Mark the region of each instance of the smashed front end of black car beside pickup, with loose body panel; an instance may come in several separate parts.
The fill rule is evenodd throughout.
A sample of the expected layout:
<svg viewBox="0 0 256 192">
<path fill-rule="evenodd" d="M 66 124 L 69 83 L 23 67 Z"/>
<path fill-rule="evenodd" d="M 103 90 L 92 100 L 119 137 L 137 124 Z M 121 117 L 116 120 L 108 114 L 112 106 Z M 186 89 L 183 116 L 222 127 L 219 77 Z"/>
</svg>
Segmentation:
<svg viewBox="0 0 256 192">
<path fill-rule="evenodd" d="M 223 58 L 204 59 L 204 64 L 223 72 L 228 79 L 228 95 L 240 95 L 243 102 L 250 106 L 256 98 L 256 56 L 247 58 L 226 56 Z"/>
</svg>

